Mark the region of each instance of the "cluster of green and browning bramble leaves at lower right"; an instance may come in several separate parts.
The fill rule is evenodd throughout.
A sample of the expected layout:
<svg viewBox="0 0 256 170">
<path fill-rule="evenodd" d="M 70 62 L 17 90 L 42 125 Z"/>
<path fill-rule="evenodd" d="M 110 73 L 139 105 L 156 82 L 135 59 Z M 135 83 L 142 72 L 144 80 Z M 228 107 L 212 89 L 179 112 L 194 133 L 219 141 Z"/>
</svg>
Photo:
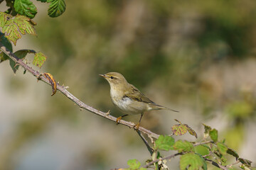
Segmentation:
<svg viewBox="0 0 256 170">
<path fill-rule="evenodd" d="M 178 120 L 176 120 L 178 121 Z M 172 135 L 183 135 L 188 129 L 192 132 L 191 135 L 197 137 L 196 132 L 189 128 L 188 125 L 184 125 L 178 121 L 178 125 L 174 125 L 171 130 Z M 208 163 L 217 166 L 220 169 L 228 169 L 235 164 L 240 164 L 240 169 L 252 169 L 252 162 L 247 159 L 239 157 L 235 150 L 230 149 L 225 145 L 225 140 L 220 141 L 218 139 L 218 130 L 210 128 L 208 125 L 204 125 L 205 132 L 203 133 L 203 139 L 200 142 L 189 142 L 187 140 L 174 140 L 174 137 L 170 135 L 160 135 L 159 138 L 154 141 L 154 154 L 152 158 L 146 162 L 145 166 L 140 166 L 136 159 L 132 159 L 132 162 L 136 162 L 137 166 L 129 166 L 130 170 L 137 170 L 141 167 L 150 167 L 154 169 L 169 169 L 166 166 L 167 159 L 181 155 L 179 158 L 179 167 L 181 170 L 197 170 L 208 169 Z M 188 131 L 189 132 L 189 131 Z M 198 147 L 202 147 L 206 152 L 198 152 Z M 176 154 L 172 154 L 169 157 L 162 157 L 161 151 L 173 151 Z M 235 158 L 235 163 L 227 164 L 228 155 Z M 129 160 L 131 162 L 131 160 Z M 150 164 L 154 163 L 154 164 Z M 150 164 L 151 166 L 147 166 Z"/>
</svg>

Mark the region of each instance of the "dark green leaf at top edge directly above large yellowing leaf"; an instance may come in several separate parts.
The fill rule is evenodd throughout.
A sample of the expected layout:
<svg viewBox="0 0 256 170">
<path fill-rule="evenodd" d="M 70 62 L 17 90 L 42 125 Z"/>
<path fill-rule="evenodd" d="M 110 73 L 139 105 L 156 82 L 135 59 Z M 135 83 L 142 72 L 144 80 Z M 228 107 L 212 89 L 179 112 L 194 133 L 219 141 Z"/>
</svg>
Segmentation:
<svg viewBox="0 0 256 170">
<path fill-rule="evenodd" d="M 29 0 L 15 0 L 14 8 L 18 14 L 28 18 L 34 18 L 37 13 L 36 6 Z"/>
</svg>

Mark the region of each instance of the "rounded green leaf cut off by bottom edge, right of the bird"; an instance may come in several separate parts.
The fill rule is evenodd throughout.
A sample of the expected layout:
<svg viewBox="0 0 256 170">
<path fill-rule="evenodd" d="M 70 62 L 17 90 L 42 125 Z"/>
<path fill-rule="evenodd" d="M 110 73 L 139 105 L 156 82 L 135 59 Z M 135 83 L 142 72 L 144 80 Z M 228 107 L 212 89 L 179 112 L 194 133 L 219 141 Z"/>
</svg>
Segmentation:
<svg viewBox="0 0 256 170">
<path fill-rule="evenodd" d="M 181 170 L 198 170 L 200 168 L 207 169 L 206 161 L 198 154 L 188 153 L 183 154 L 180 159 Z"/>
</svg>

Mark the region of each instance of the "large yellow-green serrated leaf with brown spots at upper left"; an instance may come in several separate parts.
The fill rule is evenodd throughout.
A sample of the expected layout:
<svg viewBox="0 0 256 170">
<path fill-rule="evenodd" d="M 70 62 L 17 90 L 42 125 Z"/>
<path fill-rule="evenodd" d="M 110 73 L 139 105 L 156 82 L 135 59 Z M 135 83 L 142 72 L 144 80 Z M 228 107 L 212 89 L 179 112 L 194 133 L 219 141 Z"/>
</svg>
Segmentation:
<svg viewBox="0 0 256 170">
<path fill-rule="evenodd" d="M 17 16 L 14 16 L 13 18 L 10 18 L 9 21 L 6 21 L 2 31 L 5 33 L 6 38 L 16 45 L 16 41 L 21 38 L 21 34 L 28 33 L 31 35 L 36 35 L 35 28 L 33 27 L 35 25 L 36 23 L 34 23 L 30 18 L 17 14 Z"/>
</svg>

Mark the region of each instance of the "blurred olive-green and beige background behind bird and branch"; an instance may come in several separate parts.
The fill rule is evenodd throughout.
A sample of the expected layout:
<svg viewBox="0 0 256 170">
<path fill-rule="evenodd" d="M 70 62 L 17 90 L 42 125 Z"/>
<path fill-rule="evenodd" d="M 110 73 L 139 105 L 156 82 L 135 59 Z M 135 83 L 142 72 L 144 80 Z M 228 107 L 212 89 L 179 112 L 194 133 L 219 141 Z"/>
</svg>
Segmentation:
<svg viewBox="0 0 256 170">
<path fill-rule="evenodd" d="M 47 16 L 48 4 L 33 3 L 38 36 L 23 36 L 14 51 L 46 54 L 40 72 L 53 74 L 87 105 L 114 116 L 122 113 L 98 74 L 120 72 L 151 100 L 180 111 L 148 113 L 142 127 L 170 134 L 178 119 L 201 139 L 205 123 L 240 157 L 256 160 L 254 0 L 66 1 L 58 18 Z M 9 61 L 1 63 L 0 169 L 113 169 L 127 167 L 129 159 L 150 159 L 134 130 L 51 93 L 28 72 L 14 75 Z M 137 123 L 139 115 L 124 120 Z M 175 137 L 180 138 L 196 140 Z M 178 159 L 168 165 L 178 169 Z"/>
</svg>

